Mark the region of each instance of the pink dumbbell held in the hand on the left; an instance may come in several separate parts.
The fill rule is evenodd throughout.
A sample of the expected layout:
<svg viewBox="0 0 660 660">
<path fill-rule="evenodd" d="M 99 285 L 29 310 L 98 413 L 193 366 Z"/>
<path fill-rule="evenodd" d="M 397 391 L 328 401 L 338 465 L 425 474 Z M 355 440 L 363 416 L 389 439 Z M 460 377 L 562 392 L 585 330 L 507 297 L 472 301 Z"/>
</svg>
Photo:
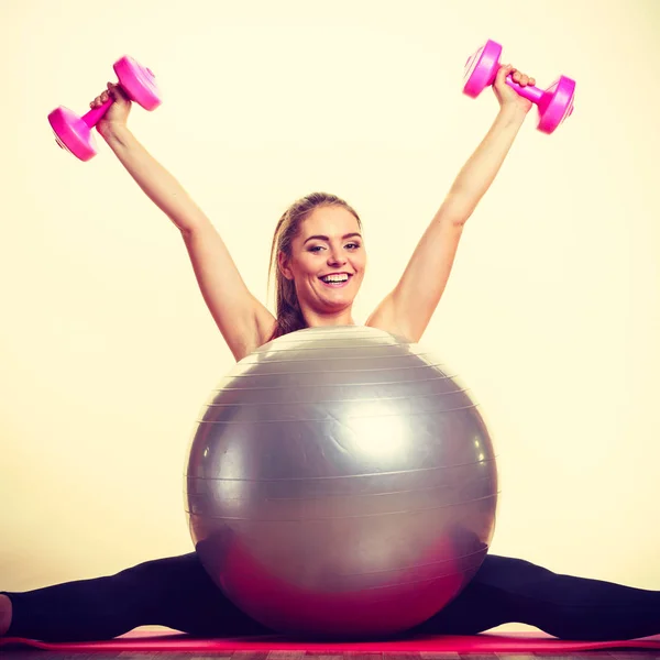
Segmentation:
<svg viewBox="0 0 660 660">
<path fill-rule="evenodd" d="M 150 69 L 141 66 L 128 55 L 118 59 L 113 68 L 121 88 L 132 101 L 145 110 L 155 110 L 161 105 L 155 76 Z M 80 161 L 89 161 L 96 156 L 91 129 L 103 118 L 111 105 L 112 99 L 109 99 L 82 117 L 78 117 L 63 106 L 53 110 L 48 114 L 48 121 L 55 131 L 57 144 Z"/>
</svg>

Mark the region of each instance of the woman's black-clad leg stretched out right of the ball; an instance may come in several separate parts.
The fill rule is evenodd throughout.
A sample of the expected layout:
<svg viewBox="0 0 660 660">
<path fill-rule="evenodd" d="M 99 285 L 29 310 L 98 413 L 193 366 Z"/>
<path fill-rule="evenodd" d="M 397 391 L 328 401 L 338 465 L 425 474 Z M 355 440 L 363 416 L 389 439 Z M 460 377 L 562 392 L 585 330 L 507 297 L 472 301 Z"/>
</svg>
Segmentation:
<svg viewBox="0 0 660 660">
<path fill-rule="evenodd" d="M 487 556 L 455 601 L 415 630 L 475 635 L 508 623 L 529 624 L 561 639 L 657 635 L 660 592 L 560 575 L 519 559 Z"/>
</svg>

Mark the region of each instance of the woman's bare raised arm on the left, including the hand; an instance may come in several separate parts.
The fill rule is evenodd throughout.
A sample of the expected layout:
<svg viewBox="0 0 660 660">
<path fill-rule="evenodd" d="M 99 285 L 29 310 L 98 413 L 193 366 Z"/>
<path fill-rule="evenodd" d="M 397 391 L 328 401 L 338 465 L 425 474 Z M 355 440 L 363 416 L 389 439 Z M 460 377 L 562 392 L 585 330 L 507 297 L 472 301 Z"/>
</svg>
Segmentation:
<svg viewBox="0 0 660 660">
<path fill-rule="evenodd" d="M 130 101 L 109 85 L 92 101 L 116 102 L 99 132 L 147 197 L 182 232 L 204 299 L 232 354 L 241 360 L 261 345 L 275 318 L 248 289 L 220 234 L 183 186 L 163 167 L 127 127 Z"/>
</svg>

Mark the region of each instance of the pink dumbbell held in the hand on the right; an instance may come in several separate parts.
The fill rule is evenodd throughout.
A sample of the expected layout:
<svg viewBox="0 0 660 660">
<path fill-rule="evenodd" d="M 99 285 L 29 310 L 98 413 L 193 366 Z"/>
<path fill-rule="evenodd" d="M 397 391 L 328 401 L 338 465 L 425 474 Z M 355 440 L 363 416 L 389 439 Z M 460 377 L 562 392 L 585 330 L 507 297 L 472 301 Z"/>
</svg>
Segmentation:
<svg viewBox="0 0 660 660">
<path fill-rule="evenodd" d="M 465 86 L 463 92 L 476 98 L 484 88 L 495 82 L 499 69 L 502 46 L 488 40 L 465 64 Z M 507 76 L 506 84 L 521 97 L 536 103 L 539 108 L 539 131 L 552 133 L 554 129 L 573 112 L 575 80 L 560 76 L 548 89 L 539 89 L 532 85 L 520 87 Z"/>
</svg>

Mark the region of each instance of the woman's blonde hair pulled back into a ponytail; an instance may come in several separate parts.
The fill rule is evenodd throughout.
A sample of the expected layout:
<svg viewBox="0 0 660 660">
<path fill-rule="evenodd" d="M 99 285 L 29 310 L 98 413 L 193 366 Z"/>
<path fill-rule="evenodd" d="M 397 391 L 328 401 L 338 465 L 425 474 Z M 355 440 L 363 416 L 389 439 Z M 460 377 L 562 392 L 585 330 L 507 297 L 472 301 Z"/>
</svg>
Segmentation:
<svg viewBox="0 0 660 660">
<path fill-rule="evenodd" d="M 302 310 L 296 294 L 296 284 L 293 279 L 287 279 L 278 267 L 277 256 L 282 252 L 286 257 L 292 255 L 292 242 L 300 231 L 300 224 L 311 216 L 315 209 L 320 207 L 341 207 L 355 216 L 358 226 L 362 229 L 362 221 L 354 209 L 343 199 L 328 193 L 312 193 L 296 200 L 279 218 L 275 227 L 273 244 L 271 245 L 271 276 L 275 275 L 276 282 L 276 317 L 277 322 L 271 339 L 276 339 L 283 334 L 295 332 L 307 328 L 307 322 L 302 317 Z M 270 286 L 270 277 L 268 277 Z"/>
</svg>

